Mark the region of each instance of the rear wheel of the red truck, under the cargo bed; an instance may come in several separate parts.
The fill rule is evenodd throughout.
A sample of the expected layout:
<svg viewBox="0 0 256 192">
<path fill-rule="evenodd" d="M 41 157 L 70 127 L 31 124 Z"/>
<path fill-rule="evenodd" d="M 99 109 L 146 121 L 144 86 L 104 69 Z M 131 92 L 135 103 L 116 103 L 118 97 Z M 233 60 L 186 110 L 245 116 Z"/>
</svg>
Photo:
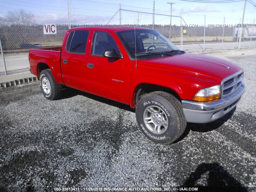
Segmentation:
<svg viewBox="0 0 256 192">
<path fill-rule="evenodd" d="M 49 100 L 56 100 L 62 94 L 62 85 L 56 83 L 50 69 L 42 70 L 40 73 L 40 88 L 42 94 Z"/>
</svg>

